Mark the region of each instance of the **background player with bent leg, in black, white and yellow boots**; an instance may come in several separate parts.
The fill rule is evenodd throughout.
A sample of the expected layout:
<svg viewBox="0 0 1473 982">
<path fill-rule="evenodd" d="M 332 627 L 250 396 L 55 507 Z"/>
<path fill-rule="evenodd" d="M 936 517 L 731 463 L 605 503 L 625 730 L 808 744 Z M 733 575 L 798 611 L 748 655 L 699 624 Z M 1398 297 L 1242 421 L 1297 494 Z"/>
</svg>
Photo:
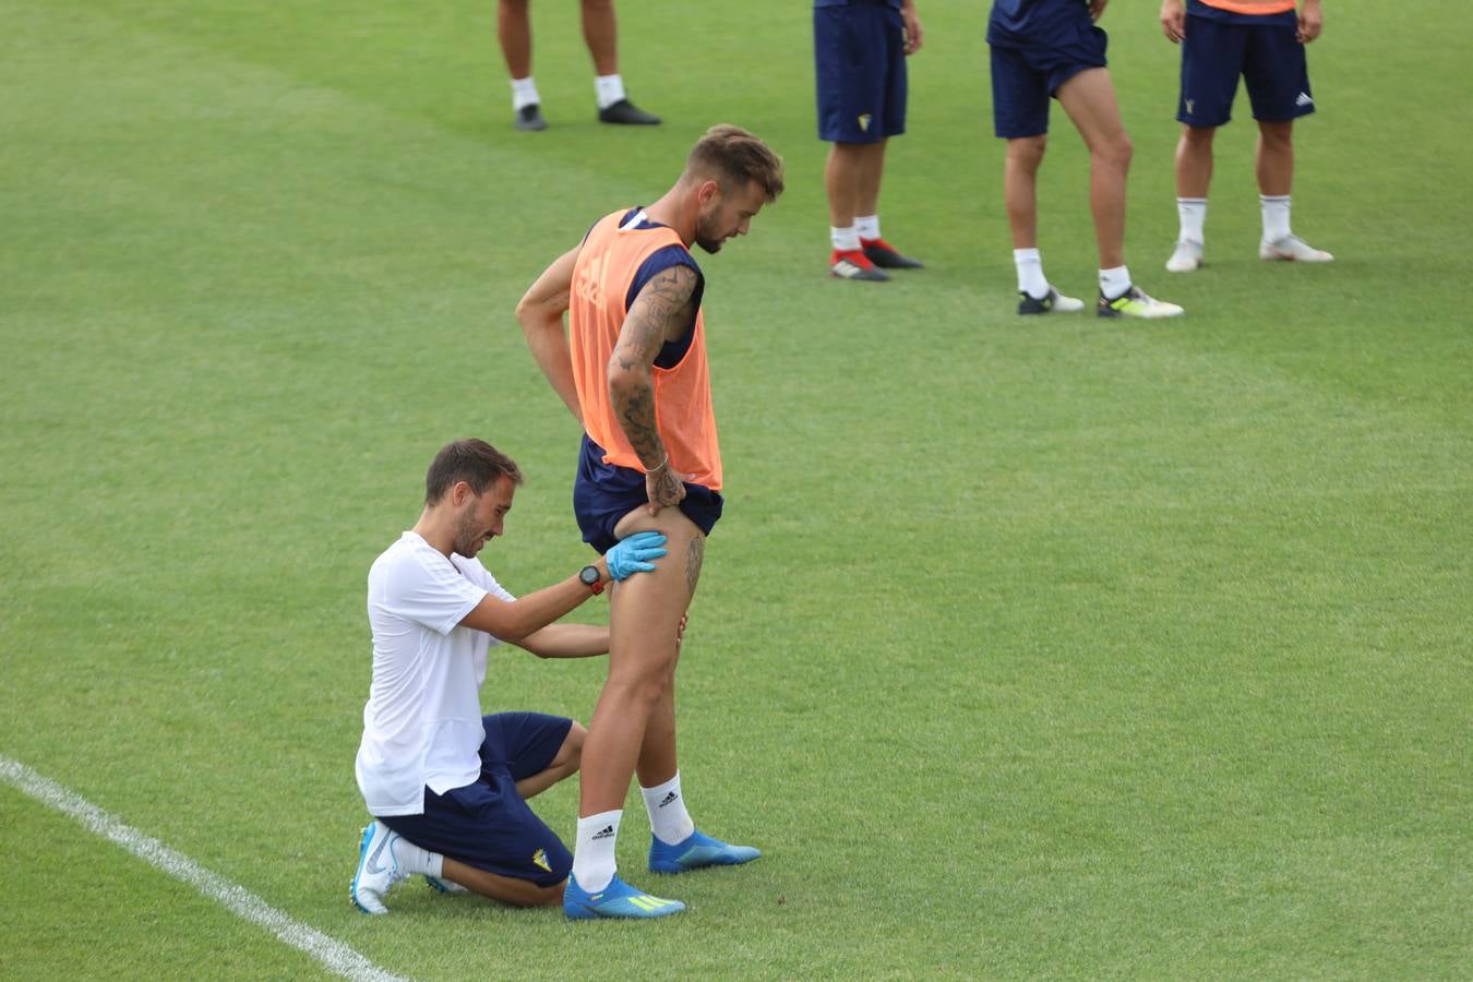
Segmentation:
<svg viewBox="0 0 1473 982">
<path fill-rule="evenodd" d="M 1038 165 L 1049 137 L 1049 99 L 1090 150 L 1090 211 L 1099 247 L 1100 317 L 1177 317 L 1181 308 L 1149 297 L 1125 268 L 1125 174 L 1131 144 L 1105 68 L 1105 31 L 1094 21 L 1106 0 L 994 0 L 987 21 L 993 68 L 993 127 L 1008 141 L 1003 197 L 1018 269 L 1018 312 L 1083 311 L 1084 302 L 1049 284 L 1038 255 Z"/>
</svg>

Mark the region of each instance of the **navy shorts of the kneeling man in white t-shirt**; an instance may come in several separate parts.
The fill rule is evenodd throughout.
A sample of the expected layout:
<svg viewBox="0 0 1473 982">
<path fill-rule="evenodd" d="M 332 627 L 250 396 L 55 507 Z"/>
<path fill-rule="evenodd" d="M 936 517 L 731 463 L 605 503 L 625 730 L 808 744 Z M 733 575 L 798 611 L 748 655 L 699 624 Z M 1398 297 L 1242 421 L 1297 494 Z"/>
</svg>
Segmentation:
<svg viewBox="0 0 1473 982">
<path fill-rule="evenodd" d="M 517 794 L 517 782 L 548 769 L 573 720 L 496 713 L 482 723 L 480 780 L 443 795 L 426 788 L 424 814 L 379 820 L 430 852 L 498 876 L 555 886 L 573 869 L 573 854 Z"/>
</svg>

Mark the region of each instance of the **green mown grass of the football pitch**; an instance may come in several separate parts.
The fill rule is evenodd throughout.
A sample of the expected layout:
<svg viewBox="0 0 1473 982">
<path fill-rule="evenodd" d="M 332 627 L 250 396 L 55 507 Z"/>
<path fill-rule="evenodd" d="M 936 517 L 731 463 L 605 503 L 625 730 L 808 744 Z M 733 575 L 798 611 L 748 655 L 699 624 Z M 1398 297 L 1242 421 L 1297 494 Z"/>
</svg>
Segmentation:
<svg viewBox="0 0 1473 982">
<path fill-rule="evenodd" d="M 806 3 L 626 0 L 639 131 L 592 121 L 576 4 L 533 6 L 544 134 L 489 0 L 0 0 L 0 757 L 414 978 L 1467 978 L 1461 6 L 1327 9 L 1295 228 L 1333 265 L 1256 259 L 1240 96 L 1173 277 L 1177 50 L 1111 4 L 1131 269 L 1189 311 L 1158 324 L 1013 315 L 985 3 L 921 1 L 882 215 L 929 268 L 884 287 L 825 277 Z M 511 311 L 723 121 L 790 190 L 704 262 L 729 506 L 682 770 L 766 855 L 648 882 L 633 795 L 622 869 L 681 917 L 423 883 L 364 917 L 367 567 L 460 436 L 529 476 L 504 583 L 586 561 Z M 1091 296 L 1055 133 L 1044 258 Z M 586 720 L 601 682 L 504 649 L 482 699 Z M 572 838 L 576 802 L 539 810 Z M 326 975 L 4 782 L 0 845 L 7 979 Z"/>
</svg>

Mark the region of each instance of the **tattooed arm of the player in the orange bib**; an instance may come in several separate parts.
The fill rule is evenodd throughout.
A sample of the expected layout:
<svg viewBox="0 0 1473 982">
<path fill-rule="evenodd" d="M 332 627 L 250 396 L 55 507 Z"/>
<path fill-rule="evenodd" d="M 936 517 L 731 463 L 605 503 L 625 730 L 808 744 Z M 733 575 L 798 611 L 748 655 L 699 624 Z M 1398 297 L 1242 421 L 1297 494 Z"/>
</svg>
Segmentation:
<svg viewBox="0 0 1473 982">
<path fill-rule="evenodd" d="M 635 297 L 608 361 L 610 398 L 619 425 L 647 467 L 658 467 L 664 445 L 655 427 L 654 359 L 660 347 L 691 322 L 700 281 L 691 266 L 660 271 Z M 619 383 L 616 383 L 619 377 Z"/>
</svg>

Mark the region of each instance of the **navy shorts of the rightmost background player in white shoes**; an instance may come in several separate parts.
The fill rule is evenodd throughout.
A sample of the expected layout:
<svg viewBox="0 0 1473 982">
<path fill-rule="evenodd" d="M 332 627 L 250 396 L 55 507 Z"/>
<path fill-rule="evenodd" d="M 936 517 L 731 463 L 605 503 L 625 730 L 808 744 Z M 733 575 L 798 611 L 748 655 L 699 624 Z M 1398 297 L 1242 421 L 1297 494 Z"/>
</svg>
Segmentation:
<svg viewBox="0 0 1473 982">
<path fill-rule="evenodd" d="M 1283 122 L 1314 112 L 1309 68 L 1298 31 L 1299 16 L 1293 10 L 1233 13 L 1193 0 L 1181 43 L 1177 119 L 1189 127 L 1228 122 L 1239 75 L 1254 119 Z"/>
</svg>

